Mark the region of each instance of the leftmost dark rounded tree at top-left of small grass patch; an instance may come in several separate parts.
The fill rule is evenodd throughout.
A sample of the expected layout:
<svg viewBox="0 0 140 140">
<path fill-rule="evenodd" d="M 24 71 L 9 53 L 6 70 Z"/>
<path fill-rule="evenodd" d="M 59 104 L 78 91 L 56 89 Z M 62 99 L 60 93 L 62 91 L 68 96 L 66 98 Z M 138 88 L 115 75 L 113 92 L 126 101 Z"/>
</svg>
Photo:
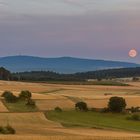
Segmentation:
<svg viewBox="0 0 140 140">
<path fill-rule="evenodd" d="M 9 102 L 9 103 L 15 103 L 18 100 L 18 98 L 15 95 L 13 95 L 13 93 L 10 91 L 5 91 L 2 94 L 2 97 L 4 97 L 6 102 Z"/>
</svg>

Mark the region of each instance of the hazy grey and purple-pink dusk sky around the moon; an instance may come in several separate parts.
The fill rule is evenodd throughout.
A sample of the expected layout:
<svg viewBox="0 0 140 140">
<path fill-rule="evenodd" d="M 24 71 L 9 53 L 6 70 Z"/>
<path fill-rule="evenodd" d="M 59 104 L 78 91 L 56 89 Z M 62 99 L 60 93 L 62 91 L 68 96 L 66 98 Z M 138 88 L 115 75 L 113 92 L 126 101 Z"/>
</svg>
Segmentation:
<svg viewBox="0 0 140 140">
<path fill-rule="evenodd" d="M 139 13 L 140 0 L 0 0 L 0 56 L 140 63 Z"/>
</svg>

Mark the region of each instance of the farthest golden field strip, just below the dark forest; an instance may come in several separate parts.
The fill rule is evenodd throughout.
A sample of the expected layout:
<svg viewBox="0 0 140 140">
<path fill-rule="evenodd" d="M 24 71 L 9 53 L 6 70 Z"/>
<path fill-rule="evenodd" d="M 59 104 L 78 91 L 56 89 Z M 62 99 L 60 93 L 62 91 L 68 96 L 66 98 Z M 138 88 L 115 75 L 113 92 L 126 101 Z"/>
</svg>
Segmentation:
<svg viewBox="0 0 140 140">
<path fill-rule="evenodd" d="M 1 92 L 10 90 L 19 92 L 21 90 L 30 90 L 34 93 L 61 93 L 61 91 L 83 91 L 83 92 L 134 92 L 140 90 L 140 83 L 130 83 L 132 86 L 100 86 L 100 85 L 61 85 L 61 84 L 47 84 L 47 83 L 25 83 L 25 82 L 7 82 L 0 81 Z M 67 91 L 68 90 L 68 91 Z"/>
</svg>

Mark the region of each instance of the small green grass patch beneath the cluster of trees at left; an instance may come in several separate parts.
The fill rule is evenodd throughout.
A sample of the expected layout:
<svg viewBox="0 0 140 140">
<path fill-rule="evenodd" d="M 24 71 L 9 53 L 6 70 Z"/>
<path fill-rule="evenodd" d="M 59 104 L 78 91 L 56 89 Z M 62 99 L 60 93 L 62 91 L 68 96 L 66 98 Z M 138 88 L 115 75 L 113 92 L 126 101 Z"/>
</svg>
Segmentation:
<svg viewBox="0 0 140 140">
<path fill-rule="evenodd" d="M 27 106 L 26 101 L 19 100 L 16 103 L 8 103 L 3 101 L 4 105 L 8 108 L 10 112 L 36 112 L 37 107 Z"/>
</svg>

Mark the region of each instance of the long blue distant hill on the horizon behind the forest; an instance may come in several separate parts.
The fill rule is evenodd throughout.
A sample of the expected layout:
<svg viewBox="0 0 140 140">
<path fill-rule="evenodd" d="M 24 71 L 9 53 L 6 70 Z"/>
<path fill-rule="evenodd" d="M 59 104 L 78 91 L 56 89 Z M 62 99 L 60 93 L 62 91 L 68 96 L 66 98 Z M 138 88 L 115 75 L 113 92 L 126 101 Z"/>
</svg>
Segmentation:
<svg viewBox="0 0 140 140">
<path fill-rule="evenodd" d="M 139 66 L 135 63 L 72 57 L 41 58 L 33 56 L 8 56 L 0 58 L 0 67 L 5 67 L 11 72 L 54 71 L 59 73 L 76 73 Z"/>
</svg>

